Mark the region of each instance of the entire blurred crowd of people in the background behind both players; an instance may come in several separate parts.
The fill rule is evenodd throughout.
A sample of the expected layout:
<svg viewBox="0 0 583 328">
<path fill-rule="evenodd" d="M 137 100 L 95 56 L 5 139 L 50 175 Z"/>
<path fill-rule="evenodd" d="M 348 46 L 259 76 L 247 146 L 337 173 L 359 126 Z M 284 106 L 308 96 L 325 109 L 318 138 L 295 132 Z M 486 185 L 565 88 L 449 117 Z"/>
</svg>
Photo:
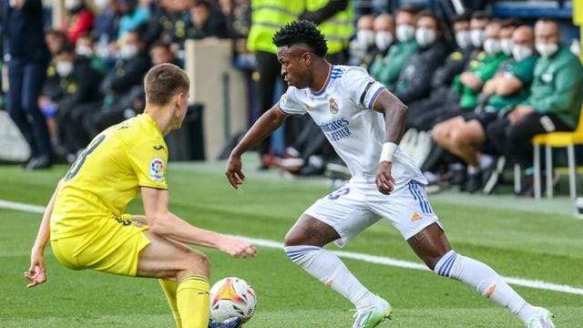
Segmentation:
<svg viewBox="0 0 583 328">
<path fill-rule="evenodd" d="M 272 49 L 261 46 L 271 40 L 261 39 L 252 24 L 251 15 L 261 17 L 259 10 L 264 10 L 253 7 L 253 1 L 66 0 L 65 18 L 53 25 L 58 28 L 34 24 L 43 29 L 36 40 L 42 45 L 35 49 L 26 49 L 30 39 L 19 39 L 18 33 L 35 35 L 31 26 L 22 26 L 42 10 L 40 1 L 4 4 L 5 34 L 13 35 L 4 49 L 10 82 L 43 86 L 36 88 L 38 95 L 19 95 L 12 87 L 10 96 L 17 101 L 6 104 L 33 149 L 27 169 L 71 162 L 97 132 L 141 112 L 142 77 L 159 63 L 182 66 L 184 42 L 190 38 L 237 41 L 233 63 L 255 72 L 249 75 L 255 83 L 250 91 L 258 93 L 250 92 L 249 104 L 256 113 L 271 107 L 279 97 L 274 92 L 284 91 L 277 89 L 280 67 Z M 320 26 L 353 17 L 350 1 L 280 5 L 283 11 L 297 11 L 294 19 L 316 19 Z M 579 47 L 564 44 L 555 21 L 526 24 L 479 10 L 444 19 L 404 5 L 394 15 L 360 15 L 352 28 L 343 30 L 351 31 L 350 38 L 330 36 L 329 59 L 335 65 L 365 67 L 408 105 L 400 147 L 424 170 L 433 190 L 448 185 L 489 193 L 502 170 L 517 163 L 526 176 L 520 193 L 530 195 L 530 139 L 578 124 L 583 97 Z M 29 77 L 17 77 L 19 69 Z M 296 137 L 285 139 L 283 151 L 274 151 L 269 139 L 261 145 L 260 169 L 295 176 L 322 174 L 327 166 L 343 171 L 310 119 L 292 119 L 290 125 Z"/>
</svg>

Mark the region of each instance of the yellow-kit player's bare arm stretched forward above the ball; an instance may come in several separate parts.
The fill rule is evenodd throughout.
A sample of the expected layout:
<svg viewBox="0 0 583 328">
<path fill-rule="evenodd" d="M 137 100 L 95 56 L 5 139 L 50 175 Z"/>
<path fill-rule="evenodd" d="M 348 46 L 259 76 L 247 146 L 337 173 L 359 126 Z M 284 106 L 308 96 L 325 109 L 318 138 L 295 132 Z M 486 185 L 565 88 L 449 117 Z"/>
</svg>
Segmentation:
<svg viewBox="0 0 583 328">
<path fill-rule="evenodd" d="M 192 226 L 168 210 L 168 190 L 142 187 L 142 200 L 149 231 L 174 241 L 218 249 L 239 258 L 255 256 L 255 247 L 247 241 Z"/>
</svg>

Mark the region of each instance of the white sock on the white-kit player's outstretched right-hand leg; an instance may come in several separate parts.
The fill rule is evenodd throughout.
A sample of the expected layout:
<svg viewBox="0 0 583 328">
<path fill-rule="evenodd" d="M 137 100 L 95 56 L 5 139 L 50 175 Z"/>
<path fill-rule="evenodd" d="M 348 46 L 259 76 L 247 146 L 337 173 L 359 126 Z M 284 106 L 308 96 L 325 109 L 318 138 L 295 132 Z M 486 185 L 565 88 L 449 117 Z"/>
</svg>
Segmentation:
<svg viewBox="0 0 583 328">
<path fill-rule="evenodd" d="M 453 250 L 445 253 L 437 262 L 435 273 L 465 282 L 483 296 L 517 314 L 523 323 L 537 313 L 535 308 L 520 297 L 492 268 L 481 261 L 459 255 Z"/>
</svg>

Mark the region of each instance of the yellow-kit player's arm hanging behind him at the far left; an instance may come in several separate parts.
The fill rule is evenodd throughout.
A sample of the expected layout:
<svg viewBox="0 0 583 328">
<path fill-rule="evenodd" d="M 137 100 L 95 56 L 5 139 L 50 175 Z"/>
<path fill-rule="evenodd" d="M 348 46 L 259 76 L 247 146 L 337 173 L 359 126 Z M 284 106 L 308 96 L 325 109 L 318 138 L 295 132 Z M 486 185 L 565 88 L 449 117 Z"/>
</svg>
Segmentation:
<svg viewBox="0 0 583 328">
<path fill-rule="evenodd" d="M 38 233 L 36 234 L 36 241 L 30 253 L 30 268 L 25 272 L 25 278 L 30 281 L 26 288 L 35 287 L 43 282 L 46 282 L 46 265 L 45 265 L 45 247 L 50 239 L 50 221 L 53 208 L 55 207 L 56 194 L 61 186 L 61 181 L 56 185 L 55 192 L 51 200 L 46 205 L 43 220 L 41 220 Z"/>
</svg>

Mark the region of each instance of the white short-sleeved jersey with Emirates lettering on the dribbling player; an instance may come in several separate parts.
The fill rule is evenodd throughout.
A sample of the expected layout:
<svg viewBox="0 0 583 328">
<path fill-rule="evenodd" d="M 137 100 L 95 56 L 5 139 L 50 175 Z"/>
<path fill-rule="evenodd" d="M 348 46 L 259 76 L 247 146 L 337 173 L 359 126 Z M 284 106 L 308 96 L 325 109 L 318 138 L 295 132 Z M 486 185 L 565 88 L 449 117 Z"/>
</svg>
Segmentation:
<svg viewBox="0 0 583 328">
<path fill-rule="evenodd" d="M 310 114 L 350 169 L 351 181 L 374 182 L 386 126 L 383 114 L 372 108 L 384 91 L 386 87 L 363 67 L 331 66 L 321 90 L 289 87 L 279 108 L 287 115 Z M 394 154 L 392 175 L 396 184 L 412 179 L 427 183 L 400 149 Z"/>
</svg>

